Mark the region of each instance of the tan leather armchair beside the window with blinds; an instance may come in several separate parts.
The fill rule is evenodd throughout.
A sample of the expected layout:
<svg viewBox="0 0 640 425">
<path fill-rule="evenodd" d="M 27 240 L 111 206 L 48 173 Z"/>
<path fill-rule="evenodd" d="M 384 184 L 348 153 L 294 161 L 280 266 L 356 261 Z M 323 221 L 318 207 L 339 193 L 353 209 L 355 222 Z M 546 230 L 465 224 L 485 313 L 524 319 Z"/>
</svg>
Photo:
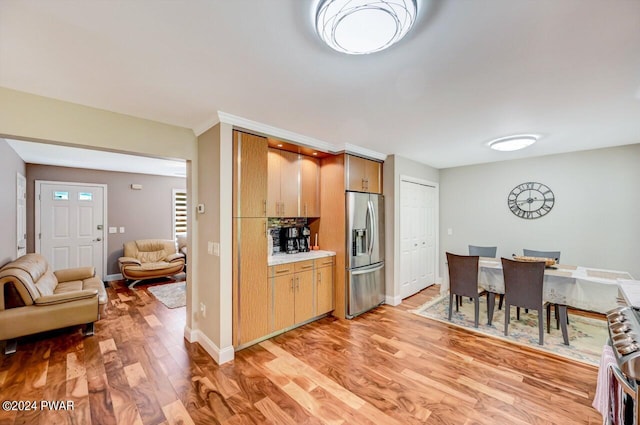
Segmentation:
<svg viewBox="0 0 640 425">
<path fill-rule="evenodd" d="M 132 280 L 129 288 L 145 279 L 169 277 L 184 270 L 184 255 L 176 243 L 165 239 L 143 239 L 124 244 L 124 256 L 118 259 L 122 277 Z"/>
</svg>

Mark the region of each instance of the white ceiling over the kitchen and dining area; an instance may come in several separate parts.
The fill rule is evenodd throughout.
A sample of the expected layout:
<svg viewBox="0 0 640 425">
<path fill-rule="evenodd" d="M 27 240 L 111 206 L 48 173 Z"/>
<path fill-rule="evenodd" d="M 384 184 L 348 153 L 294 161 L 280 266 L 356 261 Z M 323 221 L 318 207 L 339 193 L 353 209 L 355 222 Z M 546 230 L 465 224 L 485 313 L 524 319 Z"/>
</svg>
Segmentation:
<svg viewBox="0 0 640 425">
<path fill-rule="evenodd" d="M 205 129 L 217 111 L 437 168 L 640 143 L 640 1 L 418 0 L 364 56 L 317 0 L 0 0 L 0 86 Z M 520 152 L 485 144 L 544 137 Z"/>
</svg>

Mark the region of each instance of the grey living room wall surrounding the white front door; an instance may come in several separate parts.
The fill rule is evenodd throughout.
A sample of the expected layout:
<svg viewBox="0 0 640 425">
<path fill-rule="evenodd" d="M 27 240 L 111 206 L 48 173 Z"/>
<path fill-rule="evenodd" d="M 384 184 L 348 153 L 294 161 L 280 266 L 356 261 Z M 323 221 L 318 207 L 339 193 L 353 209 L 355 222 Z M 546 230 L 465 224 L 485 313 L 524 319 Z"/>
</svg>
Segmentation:
<svg viewBox="0 0 640 425">
<path fill-rule="evenodd" d="M 34 192 L 36 180 L 107 185 L 105 229 L 124 227 L 125 233 L 106 234 L 107 274 L 120 273 L 118 258 L 125 242 L 173 239 L 173 189 L 185 190 L 185 178 L 27 164 L 27 250 L 35 251 Z M 142 190 L 132 190 L 131 184 Z"/>
</svg>

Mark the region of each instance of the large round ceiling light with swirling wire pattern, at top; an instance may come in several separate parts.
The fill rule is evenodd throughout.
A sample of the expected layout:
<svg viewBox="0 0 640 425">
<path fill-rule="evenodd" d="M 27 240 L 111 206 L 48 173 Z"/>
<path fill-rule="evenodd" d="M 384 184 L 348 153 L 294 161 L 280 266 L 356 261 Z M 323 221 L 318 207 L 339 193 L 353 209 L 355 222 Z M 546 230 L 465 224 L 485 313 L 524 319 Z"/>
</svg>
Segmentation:
<svg viewBox="0 0 640 425">
<path fill-rule="evenodd" d="M 324 0 L 316 12 L 316 29 L 334 50 L 374 53 L 405 36 L 417 9 L 416 0 Z"/>
</svg>

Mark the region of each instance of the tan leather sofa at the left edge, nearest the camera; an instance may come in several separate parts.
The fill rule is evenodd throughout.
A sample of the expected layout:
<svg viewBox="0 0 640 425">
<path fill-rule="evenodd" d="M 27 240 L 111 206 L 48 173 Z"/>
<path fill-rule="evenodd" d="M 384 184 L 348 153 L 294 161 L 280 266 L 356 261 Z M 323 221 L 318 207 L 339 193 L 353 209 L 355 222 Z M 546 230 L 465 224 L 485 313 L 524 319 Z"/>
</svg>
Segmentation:
<svg viewBox="0 0 640 425">
<path fill-rule="evenodd" d="M 15 338 L 86 324 L 93 335 L 107 303 L 104 283 L 93 267 L 52 271 L 40 254 L 27 254 L 0 269 L 0 341 L 5 353 Z"/>
</svg>

